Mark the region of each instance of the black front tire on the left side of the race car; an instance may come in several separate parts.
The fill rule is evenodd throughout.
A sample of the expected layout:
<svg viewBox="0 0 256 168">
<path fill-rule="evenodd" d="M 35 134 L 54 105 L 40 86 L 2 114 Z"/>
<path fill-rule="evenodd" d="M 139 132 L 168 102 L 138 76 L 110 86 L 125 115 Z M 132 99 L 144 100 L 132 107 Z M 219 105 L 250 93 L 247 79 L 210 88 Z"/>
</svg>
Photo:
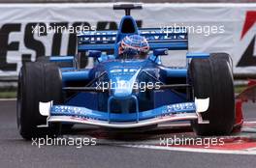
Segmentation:
<svg viewBox="0 0 256 168">
<path fill-rule="evenodd" d="M 46 125 L 47 117 L 39 112 L 39 102 L 63 102 L 62 82 L 58 67 L 52 63 L 26 63 L 18 75 L 16 119 L 20 135 L 27 140 L 52 136 L 57 125 Z"/>
</svg>

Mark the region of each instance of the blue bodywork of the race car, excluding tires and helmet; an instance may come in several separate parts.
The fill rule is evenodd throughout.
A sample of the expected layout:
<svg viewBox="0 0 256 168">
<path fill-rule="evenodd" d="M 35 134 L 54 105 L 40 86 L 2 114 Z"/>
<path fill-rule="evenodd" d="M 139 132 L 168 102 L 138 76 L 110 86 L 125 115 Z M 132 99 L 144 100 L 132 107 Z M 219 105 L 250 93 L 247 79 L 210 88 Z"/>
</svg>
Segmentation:
<svg viewBox="0 0 256 168">
<path fill-rule="evenodd" d="M 209 54 L 187 53 L 187 65 L 183 68 L 163 66 L 160 56 L 154 55 L 156 52 L 149 52 L 144 60 L 119 59 L 119 42 L 129 35 L 144 36 L 152 51 L 160 48 L 188 50 L 188 35 L 184 28 L 173 31 L 160 28 L 139 29 L 130 15 L 123 16 L 117 31 L 81 33 L 78 35 L 78 56 L 50 58 L 51 62 L 74 63 L 74 67 L 61 69 L 63 92 L 67 94 L 63 104 L 51 107 L 51 116 L 140 122 L 170 114 L 195 113 L 196 107 L 187 77 L 189 60 L 208 58 Z M 101 51 L 101 55 L 98 52 L 89 54 L 92 57 L 95 55 L 97 60 L 94 67 L 80 69 L 80 53 L 88 53 L 90 50 Z M 130 85 L 123 87 L 118 82 Z M 142 89 L 142 83 L 153 86 L 151 89 L 146 88 L 148 86 Z M 135 84 L 139 84 L 139 88 L 135 88 Z M 182 86 L 175 88 L 178 84 Z M 156 85 L 160 87 L 157 88 Z"/>
</svg>

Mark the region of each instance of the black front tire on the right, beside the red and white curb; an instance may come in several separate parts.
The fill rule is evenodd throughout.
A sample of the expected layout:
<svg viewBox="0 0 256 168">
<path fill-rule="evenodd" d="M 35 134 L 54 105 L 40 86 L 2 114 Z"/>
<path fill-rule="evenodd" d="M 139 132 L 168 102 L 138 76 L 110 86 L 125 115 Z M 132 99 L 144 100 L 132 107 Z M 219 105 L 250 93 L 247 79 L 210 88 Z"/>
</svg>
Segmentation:
<svg viewBox="0 0 256 168">
<path fill-rule="evenodd" d="M 213 55 L 213 56 L 212 56 Z M 209 98 L 208 110 L 202 113 L 209 124 L 192 121 L 198 135 L 228 135 L 235 124 L 235 95 L 233 74 L 227 60 L 219 54 L 210 54 L 208 59 L 192 59 L 189 78 L 195 98 Z"/>
</svg>

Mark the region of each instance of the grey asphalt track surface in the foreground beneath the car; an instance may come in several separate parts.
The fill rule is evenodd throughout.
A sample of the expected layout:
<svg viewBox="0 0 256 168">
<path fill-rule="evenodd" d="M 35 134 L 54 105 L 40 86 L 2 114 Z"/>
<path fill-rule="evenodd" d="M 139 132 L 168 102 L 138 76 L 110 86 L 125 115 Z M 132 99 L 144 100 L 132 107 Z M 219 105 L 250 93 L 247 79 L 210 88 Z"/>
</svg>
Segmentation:
<svg viewBox="0 0 256 168">
<path fill-rule="evenodd" d="M 256 104 L 244 105 L 245 118 L 256 120 Z M 0 168 L 15 167 L 184 167 L 254 168 L 255 155 L 205 154 L 127 148 L 114 145 L 118 139 L 96 146 L 38 146 L 23 140 L 16 129 L 16 101 L 0 101 Z M 83 129 L 83 130 L 82 130 Z M 93 128 L 87 128 L 93 131 Z M 73 129 L 70 136 L 82 136 L 86 127 Z M 77 135 L 76 135 L 77 134 Z M 86 136 L 83 134 L 83 136 Z M 144 136 L 143 133 L 141 136 Z M 128 139 L 128 137 L 125 137 Z M 124 138 L 124 139 L 125 139 Z M 113 142 L 113 143 L 112 143 Z"/>
</svg>

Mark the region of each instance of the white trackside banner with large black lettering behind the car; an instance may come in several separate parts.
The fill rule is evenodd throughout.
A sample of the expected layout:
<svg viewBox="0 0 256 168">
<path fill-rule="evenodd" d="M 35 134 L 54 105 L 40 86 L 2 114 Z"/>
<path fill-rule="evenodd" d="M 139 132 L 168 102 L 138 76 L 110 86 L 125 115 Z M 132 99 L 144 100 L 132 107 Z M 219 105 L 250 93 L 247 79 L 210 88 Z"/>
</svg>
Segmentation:
<svg viewBox="0 0 256 168">
<path fill-rule="evenodd" d="M 23 62 L 39 56 L 74 55 L 74 27 L 116 29 L 124 14 L 111 3 L 1 4 L 0 11 L 0 76 L 17 75 Z M 144 4 L 132 15 L 142 27 L 188 26 L 189 51 L 227 52 L 235 73 L 256 72 L 256 4 Z M 35 26 L 48 33 L 39 36 Z M 59 26 L 69 33 L 58 33 Z"/>
</svg>

